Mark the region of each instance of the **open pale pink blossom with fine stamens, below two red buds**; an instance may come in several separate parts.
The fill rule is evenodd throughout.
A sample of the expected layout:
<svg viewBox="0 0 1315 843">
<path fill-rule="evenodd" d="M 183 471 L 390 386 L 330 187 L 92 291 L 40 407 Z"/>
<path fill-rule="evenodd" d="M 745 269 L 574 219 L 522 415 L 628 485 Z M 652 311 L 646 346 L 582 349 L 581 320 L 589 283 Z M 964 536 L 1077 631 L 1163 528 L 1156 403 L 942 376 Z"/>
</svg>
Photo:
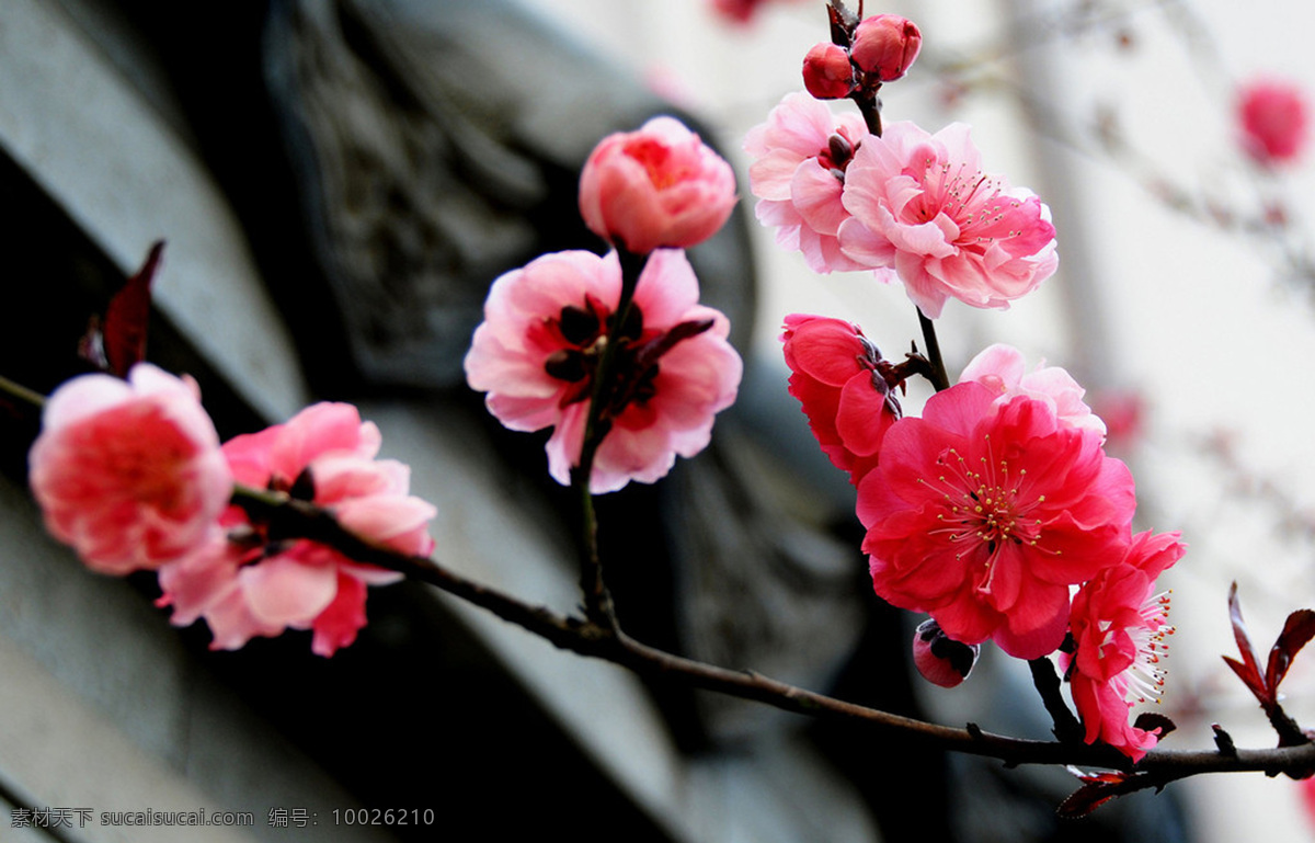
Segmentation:
<svg viewBox="0 0 1315 843">
<path fill-rule="evenodd" d="M 984 174 L 963 124 L 934 135 L 911 122 L 888 125 L 859 147 L 842 201 L 852 214 L 839 229 L 844 254 L 893 268 L 931 318 L 949 297 L 1007 308 L 1059 266 L 1049 209 Z"/>
</svg>

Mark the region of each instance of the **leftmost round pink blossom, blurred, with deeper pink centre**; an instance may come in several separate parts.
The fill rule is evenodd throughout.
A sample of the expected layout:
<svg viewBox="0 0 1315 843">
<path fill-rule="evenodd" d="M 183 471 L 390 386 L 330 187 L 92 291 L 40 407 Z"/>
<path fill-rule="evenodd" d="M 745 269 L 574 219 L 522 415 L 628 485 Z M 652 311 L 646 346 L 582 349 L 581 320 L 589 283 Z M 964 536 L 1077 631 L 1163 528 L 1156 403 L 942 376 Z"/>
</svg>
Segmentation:
<svg viewBox="0 0 1315 843">
<path fill-rule="evenodd" d="M 59 387 L 28 463 L 46 529 L 101 573 L 191 551 L 233 492 L 196 383 L 149 363 Z"/>
</svg>

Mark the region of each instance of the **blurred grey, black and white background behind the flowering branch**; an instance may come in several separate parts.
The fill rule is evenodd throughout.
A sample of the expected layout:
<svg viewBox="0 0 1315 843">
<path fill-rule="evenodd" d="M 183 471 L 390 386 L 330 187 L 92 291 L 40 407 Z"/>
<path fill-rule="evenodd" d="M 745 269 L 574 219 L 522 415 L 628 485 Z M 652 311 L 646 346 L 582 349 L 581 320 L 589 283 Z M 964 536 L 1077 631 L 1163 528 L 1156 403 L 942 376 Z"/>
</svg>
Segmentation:
<svg viewBox="0 0 1315 843">
<path fill-rule="evenodd" d="M 718 0 L 719 1 L 719 0 Z M 732 8 L 734 7 L 734 8 Z M 1239 584 L 1258 646 L 1315 604 L 1312 166 L 1244 151 L 1247 84 L 1315 91 L 1315 11 L 1256 0 L 906 0 L 923 53 L 886 120 L 973 126 L 985 167 L 1048 203 L 1060 271 L 1007 312 L 951 302 L 951 375 L 1007 342 L 1068 368 L 1139 488 L 1181 530 L 1162 583 L 1178 633 L 1165 747 L 1270 746 L 1219 656 Z M 601 501 L 613 587 L 643 640 L 945 723 L 1047 736 L 1026 669 L 988 654 L 965 685 L 910 675 L 917 618 L 880 605 L 852 489 L 785 395 L 786 313 L 851 320 L 888 354 L 920 335 L 867 274 L 817 276 L 752 217 L 744 133 L 826 38 L 821 0 L 7 0 L 0 191 L 9 259 L 0 373 L 49 392 L 82 371 L 92 313 L 166 241 L 149 356 L 193 373 L 221 434 L 352 400 L 441 510 L 438 556 L 571 610 L 572 504 L 543 437 L 464 388 L 488 284 L 537 254 L 601 249 L 575 179 L 604 134 L 675 112 L 740 176 L 736 218 L 692 260 L 736 325 L 742 398 L 713 448 Z M 836 104 L 838 109 L 847 108 Z M 926 392 L 911 391 L 917 412 Z M 92 822 L 3 840 L 178 840 L 100 811 L 251 811 L 203 840 L 413 840 L 342 822 L 433 809 L 454 839 L 569 830 L 636 840 L 1308 839 L 1301 785 L 1199 777 L 1057 823 L 1064 771 L 911 752 L 760 706 L 642 683 L 556 652 L 426 588 L 372 594 L 333 660 L 304 635 L 210 652 L 149 576 L 82 569 L 24 489 L 36 427 L 4 431 L 0 797 Z M 1297 660 L 1285 706 L 1315 718 Z M 335 810 L 338 811 L 335 817 Z M 300 823 L 300 825 L 299 825 Z M 129 832 L 130 831 L 130 832 Z"/>
</svg>

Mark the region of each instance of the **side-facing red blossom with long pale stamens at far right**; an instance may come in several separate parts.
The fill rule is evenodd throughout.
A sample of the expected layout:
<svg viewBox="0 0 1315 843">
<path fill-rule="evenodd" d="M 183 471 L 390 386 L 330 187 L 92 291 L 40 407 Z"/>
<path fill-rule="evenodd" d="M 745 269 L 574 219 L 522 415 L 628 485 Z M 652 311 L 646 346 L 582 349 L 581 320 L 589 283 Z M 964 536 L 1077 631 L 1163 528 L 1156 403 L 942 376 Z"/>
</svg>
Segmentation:
<svg viewBox="0 0 1315 843">
<path fill-rule="evenodd" d="M 1164 688 L 1169 597 L 1155 581 L 1182 558 L 1177 533 L 1139 533 L 1114 568 L 1101 571 L 1073 598 L 1070 630 L 1077 651 L 1069 668 L 1073 704 L 1086 742 L 1109 743 L 1134 761 L 1156 744 L 1159 729 L 1128 722 L 1134 705 L 1156 700 Z"/>
</svg>

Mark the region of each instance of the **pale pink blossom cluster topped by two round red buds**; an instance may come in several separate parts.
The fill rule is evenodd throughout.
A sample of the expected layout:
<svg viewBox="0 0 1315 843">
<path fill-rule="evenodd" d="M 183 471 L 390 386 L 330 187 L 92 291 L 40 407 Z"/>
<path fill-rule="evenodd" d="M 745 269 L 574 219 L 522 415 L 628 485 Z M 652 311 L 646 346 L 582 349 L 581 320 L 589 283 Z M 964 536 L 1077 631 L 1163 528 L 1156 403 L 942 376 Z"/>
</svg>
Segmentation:
<svg viewBox="0 0 1315 843">
<path fill-rule="evenodd" d="M 1053 275 L 1049 209 L 985 174 L 965 125 L 928 134 L 894 122 L 871 132 L 868 121 L 835 116 L 814 99 L 871 103 L 874 87 L 917 58 L 917 26 L 878 14 L 838 37 L 847 43 L 818 45 L 805 60 L 813 96 L 786 95 L 744 141 L 757 218 L 777 229 L 777 242 L 802 251 L 815 272 L 898 277 L 931 318 L 948 299 L 1007 308 Z"/>
</svg>

